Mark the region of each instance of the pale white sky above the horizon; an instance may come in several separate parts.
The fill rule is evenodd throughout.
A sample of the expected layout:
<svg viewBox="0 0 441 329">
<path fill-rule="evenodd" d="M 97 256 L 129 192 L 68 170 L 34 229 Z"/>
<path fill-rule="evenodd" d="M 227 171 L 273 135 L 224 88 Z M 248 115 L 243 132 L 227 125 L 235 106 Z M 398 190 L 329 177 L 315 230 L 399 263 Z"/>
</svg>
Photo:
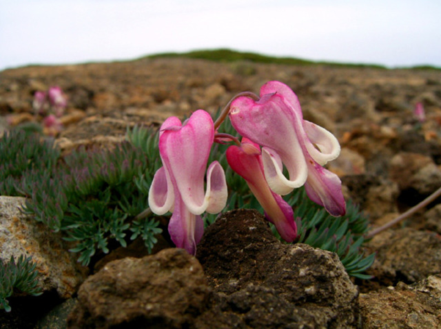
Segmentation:
<svg viewBox="0 0 441 329">
<path fill-rule="evenodd" d="M 0 0 L 0 70 L 219 47 L 441 67 L 441 1 Z"/>
</svg>

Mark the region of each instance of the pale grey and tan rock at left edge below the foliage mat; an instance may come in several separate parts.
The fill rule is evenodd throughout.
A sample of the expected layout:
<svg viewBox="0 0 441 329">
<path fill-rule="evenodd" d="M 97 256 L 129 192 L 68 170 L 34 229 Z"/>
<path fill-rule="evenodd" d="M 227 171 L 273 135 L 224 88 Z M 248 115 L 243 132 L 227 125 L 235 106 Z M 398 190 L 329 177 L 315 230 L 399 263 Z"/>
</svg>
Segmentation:
<svg viewBox="0 0 441 329">
<path fill-rule="evenodd" d="M 76 293 L 87 271 L 76 263 L 61 235 L 20 211 L 25 198 L 0 196 L 0 258 L 32 256 L 39 272 L 39 288 L 43 292 L 57 290 L 59 297 Z"/>
</svg>

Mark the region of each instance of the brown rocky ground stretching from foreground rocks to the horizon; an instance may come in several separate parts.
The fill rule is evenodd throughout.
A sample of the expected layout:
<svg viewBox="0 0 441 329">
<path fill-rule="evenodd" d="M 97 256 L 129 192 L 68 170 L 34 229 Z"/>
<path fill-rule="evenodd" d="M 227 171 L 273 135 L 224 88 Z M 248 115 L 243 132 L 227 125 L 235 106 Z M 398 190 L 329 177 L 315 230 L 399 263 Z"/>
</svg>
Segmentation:
<svg viewBox="0 0 441 329">
<path fill-rule="evenodd" d="M 435 70 L 191 59 L 21 67 L 0 72 L 0 130 L 40 120 L 32 112 L 34 92 L 59 85 L 69 97 L 57 136 L 63 151 L 107 147 L 127 127 L 214 112 L 270 80 L 289 85 L 305 118 L 338 137 L 342 152 L 329 169 L 371 226 L 441 186 Z M 413 114 L 416 103 L 424 105 L 423 123 Z M 1 259 L 14 251 L 36 255 L 46 293 L 10 299 L 0 328 L 441 328 L 440 200 L 373 237 L 369 281 L 348 277 L 332 253 L 280 244 L 254 211 L 220 217 L 196 258 L 165 248 L 166 240 L 164 250 L 145 256 L 134 242 L 88 272 L 62 252 L 63 242 L 17 211 L 22 202 L 0 197 Z"/>
</svg>

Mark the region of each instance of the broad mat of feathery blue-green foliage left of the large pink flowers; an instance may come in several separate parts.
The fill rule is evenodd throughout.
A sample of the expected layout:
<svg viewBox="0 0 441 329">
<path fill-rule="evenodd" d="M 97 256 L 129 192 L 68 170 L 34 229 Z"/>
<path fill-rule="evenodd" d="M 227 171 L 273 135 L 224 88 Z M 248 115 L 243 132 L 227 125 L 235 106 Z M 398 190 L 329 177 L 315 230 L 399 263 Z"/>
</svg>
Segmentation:
<svg viewBox="0 0 441 329">
<path fill-rule="evenodd" d="M 161 164 L 145 153 L 136 136 L 157 149 L 156 129 L 134 129 L 112 149 L 78 149 L 61 158 L 52 140 L 16 130 L 0 138 L 0 194 L 25 196 L 25 213 L 74 242 L 71 251 L 88 265 L 110 242 L 127 246 L 141 236 L 149 251 L 162 232 L 154 217 L 138 218 L 148 207 L 148 187 Z M 146 140 L 143 140 L 146 142 Z"/>
</svg>

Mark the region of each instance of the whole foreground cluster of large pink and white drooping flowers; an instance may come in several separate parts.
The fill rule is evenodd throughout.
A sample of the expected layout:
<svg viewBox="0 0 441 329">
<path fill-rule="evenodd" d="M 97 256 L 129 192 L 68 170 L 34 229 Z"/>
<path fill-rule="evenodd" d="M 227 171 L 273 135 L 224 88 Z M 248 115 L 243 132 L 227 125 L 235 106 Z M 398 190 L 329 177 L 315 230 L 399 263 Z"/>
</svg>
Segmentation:
<svg viewBox="0 0 441 329">
<path fill-rule="evenodd" d="M 227 162 L 245 179 L 285 241 L 292 242 L 297 235 L 294 212 L 281 197 L 293 189 L 305 185 L 309 198 L 331 215 L 345 214 L 341 181 L 322 167 L 339 155 L 338 140 L 303 119 L 298 98 L 287 85 L 270 81 L 260 89 L 260 97 L 239 95 L 226 110 L 243 136 L 241 142 L 230 138 L 238 145 L 227 149 Z M 160 131 L 163 167 L 150 187 L 150 209 L 158 215 L 172 211 L 170 236 L 178 248 L 193 255 L 203 234 L 201 214 L 219 213 L 227 202 L 225 173 L 217 161 L 209 165 L 205 180 L 212 144 L 225 140 L 225 134 L 216 134 L 217 127 L 217 121 L 214 124 L 199 109 L 184 123 L 168 118 Z"/>
</svg>

